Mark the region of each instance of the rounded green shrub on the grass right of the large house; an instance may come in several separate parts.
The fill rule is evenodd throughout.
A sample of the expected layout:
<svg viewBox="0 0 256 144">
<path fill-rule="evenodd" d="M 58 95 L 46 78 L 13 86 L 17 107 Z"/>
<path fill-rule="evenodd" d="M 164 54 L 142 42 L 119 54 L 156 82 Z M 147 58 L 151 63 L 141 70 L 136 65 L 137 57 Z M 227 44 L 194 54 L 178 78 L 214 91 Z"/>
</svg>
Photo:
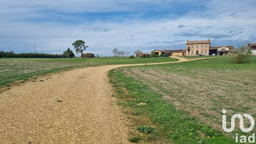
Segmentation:
<svg viewBox="0 0 256 144">
<path fill-rule="evenodd" d="M 236 64 L 249 63 L 249 56 L 251 56 L 249 48 L 241 46 L 235 51 L 235 54 L 233 55 L 233 62 Z"/>
</svg>

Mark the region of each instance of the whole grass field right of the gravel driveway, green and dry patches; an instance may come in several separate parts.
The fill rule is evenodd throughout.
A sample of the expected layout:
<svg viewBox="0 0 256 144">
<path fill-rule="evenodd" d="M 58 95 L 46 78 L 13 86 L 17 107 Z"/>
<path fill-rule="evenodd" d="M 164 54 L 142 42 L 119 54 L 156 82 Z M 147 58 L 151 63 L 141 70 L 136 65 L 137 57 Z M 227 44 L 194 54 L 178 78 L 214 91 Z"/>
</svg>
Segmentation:
<svg viewBox="0 0 256 144">
<path fill-rule="evenodd" d="M 119 104 L 135 121 L 130 137 L 149 143 L 234 143 L 236 132 L 245 133 L 238 126 L 230 134 L 222 130 L 222 109 L 227 110 L 227 127 L 235 113 L 256 117 L 256 57 L 251 60 L 233 64 L 230 57 L 221 57 L 114 69 L 110 77 Z M 145 125 L 154 133 L 136 130 Z"/>
</svg>

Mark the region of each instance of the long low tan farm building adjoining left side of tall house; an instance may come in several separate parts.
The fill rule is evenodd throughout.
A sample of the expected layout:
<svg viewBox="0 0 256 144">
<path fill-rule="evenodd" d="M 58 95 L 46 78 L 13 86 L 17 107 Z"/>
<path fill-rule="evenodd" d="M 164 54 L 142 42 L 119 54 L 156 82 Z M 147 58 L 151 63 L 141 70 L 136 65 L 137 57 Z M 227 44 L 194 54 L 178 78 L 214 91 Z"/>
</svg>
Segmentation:
<svg viewBox="0 0 256 144">
<path fill-rule="evenodd" d="M 186 56 L 186 50 L 153 50 L 151 53 L 161 56 L 162 54 L 169 54 L 169 56 Z"/>
</svg>

